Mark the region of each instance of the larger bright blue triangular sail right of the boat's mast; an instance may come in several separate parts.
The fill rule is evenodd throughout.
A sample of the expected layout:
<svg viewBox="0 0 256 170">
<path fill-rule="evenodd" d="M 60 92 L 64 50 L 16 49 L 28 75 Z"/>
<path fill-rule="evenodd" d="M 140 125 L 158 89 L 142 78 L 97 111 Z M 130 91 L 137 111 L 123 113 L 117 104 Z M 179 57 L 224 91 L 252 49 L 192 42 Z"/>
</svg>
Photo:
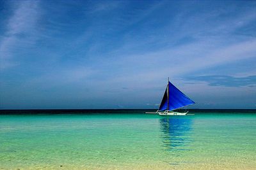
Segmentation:
<svg viewBox="0 0 256 170">
<path fill-rule="evenodd" d="M 194 101 L 180 92 L 180 90 L 169 81 L 169 110 L 175 110 L 194 103 Z"/>
</svg>

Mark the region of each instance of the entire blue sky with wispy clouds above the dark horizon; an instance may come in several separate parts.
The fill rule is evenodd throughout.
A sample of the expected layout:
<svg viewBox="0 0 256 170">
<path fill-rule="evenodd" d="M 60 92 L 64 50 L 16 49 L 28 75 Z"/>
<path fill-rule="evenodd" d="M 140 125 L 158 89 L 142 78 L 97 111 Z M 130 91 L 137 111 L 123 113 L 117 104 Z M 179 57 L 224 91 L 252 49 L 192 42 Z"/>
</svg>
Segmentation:
<svg viewBox="0 0 256 170">
<path fill-rule="evenodd" d="M 256 108 L 256 1 L 0 0 L 0 109 Z"/>
</svg>

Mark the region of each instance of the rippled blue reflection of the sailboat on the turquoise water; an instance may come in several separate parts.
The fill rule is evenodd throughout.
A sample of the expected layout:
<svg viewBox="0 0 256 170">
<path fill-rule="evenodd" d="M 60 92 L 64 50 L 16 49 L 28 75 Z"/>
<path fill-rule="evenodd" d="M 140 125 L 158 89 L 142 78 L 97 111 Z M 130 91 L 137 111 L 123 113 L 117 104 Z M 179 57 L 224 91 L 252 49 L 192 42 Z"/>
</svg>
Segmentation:
<svg viewBox="0 0 256 170">
<path fill-rule="evenodd" d="M 191 118 L 160 118 L 161 138 L 166 150 L 186 150 L 191 141 Z"/>
</svg>

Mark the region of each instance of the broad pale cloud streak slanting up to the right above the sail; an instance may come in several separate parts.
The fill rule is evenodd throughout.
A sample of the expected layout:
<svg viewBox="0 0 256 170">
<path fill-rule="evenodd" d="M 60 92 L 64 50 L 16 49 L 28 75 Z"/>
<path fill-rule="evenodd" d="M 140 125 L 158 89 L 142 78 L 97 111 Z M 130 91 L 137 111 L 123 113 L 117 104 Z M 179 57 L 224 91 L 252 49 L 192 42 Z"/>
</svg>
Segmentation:
<svg viewBox="0 0 256 170">
<path fill-rule="evenodd" d="M 255 57 L 255 46 L 256 40 L 234 43 L 225 47 L 214 46 L 211 41 L 205 40 L 173 47 L 170 50 L 105 59 L 102 60 L 100 67 L 108 67 L 106 64 L 111 62 L 111 67 L 117 73 L 115 77 L 109 77 L 109 81 L 113 83 L 119 81 L 129 83 L 132 87 L 145 88 L 145 84 L 147 87 L 154 86 L 156 85 L 154 82 L 165 80 L 168 76 L 177 78 L 200 69 Z"/>
</svg>

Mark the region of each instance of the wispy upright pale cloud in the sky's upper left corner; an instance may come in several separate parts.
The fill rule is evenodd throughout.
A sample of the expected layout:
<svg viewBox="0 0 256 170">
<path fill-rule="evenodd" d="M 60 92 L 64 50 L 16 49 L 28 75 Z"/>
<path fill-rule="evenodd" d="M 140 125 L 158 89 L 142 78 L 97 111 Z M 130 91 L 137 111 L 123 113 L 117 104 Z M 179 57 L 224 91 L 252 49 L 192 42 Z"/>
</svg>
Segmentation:
<svg viewBox="0 0 256 170">
<path fill-rule="evenodd" d="M 0 41 L 0 69 L 18 64 L 12 60 L 13 53 L 19 53 L 20 47 L 33 45 L 38 3 L 39 1 L 19 1 L 19 4 L 15 4 L 13 15 L 6 24 L 7 31 Z"/>
</svg>

